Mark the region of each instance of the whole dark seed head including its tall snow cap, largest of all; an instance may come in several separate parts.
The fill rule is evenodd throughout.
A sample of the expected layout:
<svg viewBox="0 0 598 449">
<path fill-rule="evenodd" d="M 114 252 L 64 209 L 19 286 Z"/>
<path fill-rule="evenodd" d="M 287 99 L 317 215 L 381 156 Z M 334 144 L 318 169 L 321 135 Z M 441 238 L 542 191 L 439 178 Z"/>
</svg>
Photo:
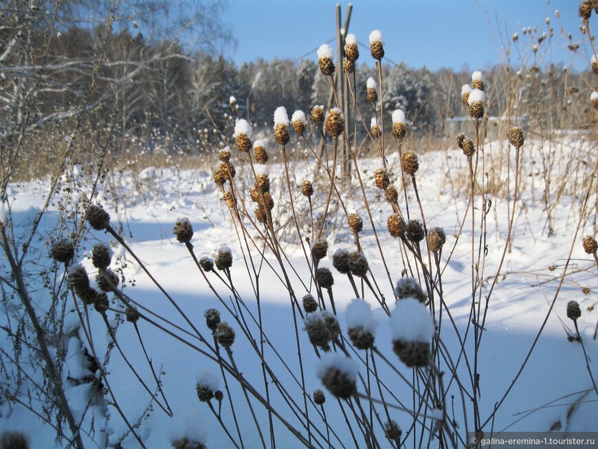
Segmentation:
<svg viewBox="0 0 598 449">
<path fill-rule="evenodd" d="M 430 360 L 430 339 L 434 320 L 430 311 L 415 298 L 397 302 L 390 314 L 392 349 L 409 366 L 425 366 Z"/>
</svg>

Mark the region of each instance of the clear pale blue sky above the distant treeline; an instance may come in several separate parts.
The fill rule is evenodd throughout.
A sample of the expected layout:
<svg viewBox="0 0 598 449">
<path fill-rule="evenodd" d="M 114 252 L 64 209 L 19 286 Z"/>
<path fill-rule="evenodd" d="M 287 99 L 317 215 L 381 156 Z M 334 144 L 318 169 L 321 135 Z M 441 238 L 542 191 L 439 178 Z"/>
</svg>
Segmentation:
<svg viewBox="0 0 598 449">
<path fill-rule="evenodd" d="M 348 32 L 359 43 L 368 45 L 372 30 L 381 30 L 385 41 L 386 60 L 406 63 L 409 67 L 424 65 L 483 69 L 500 63 L 502 45 L 511 42 L 518 32 L 518 49 L 512 47 L 512 64 L 520 65 L 520 55 L 531 56 L 531 45 L 554 29 L 552 45 L 546 41 L 537 57 L 540 63 L 562 62 L 572 68 L 587 67 L 566 50 L 571 33 L 573 42 L 582 43 L 575 0 L 353 0 Z M 227 52 L 237 64 L 263 58 L 317 58 L 315 50 L 331 41 L 335 48 L 335 5 L 341 6 L 344 17 L 348 2 L 329 0 L 229 0 L 223 21 L 230 25 L 236 38 L 236 50 Z M 559 10 L 560 19 L 555 17 Z M 551 21 L 546 24 L 546 17 Z M 590 26 L 598 18 L 590 18 Z M 523 36 L 523 27 L 538 28 L 533 39 Z M 564 36 L 561 36 L 561 28 Z M 598 32 L 598 26 L 597 26 Z M 501 36 L 502 33 L 502 36 Z M 501 41 L 502 39 L 502 41 Z M 512 45 L 512 44 L 511 44 Z M 547 50 L 549 49 L 550 50 Z M 582 47 L 583 49 L 583 47 Z M 361 47 L 359 62 L 372 61 L 366 47 Z"/>
</svg>

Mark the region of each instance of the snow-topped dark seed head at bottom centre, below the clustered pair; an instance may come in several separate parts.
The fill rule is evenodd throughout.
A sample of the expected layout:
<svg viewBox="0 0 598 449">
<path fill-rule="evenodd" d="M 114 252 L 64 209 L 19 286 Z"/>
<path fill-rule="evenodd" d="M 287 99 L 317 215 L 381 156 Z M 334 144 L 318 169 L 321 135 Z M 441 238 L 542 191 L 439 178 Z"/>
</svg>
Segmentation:
<svg viewBox="0 0 598 449">
<path fill-rule="evenodd" d="M 348 399 L 357 391 L 357 373 L 359 369 L 353 360 L 333 352 L 323 353 L 317 368 L 322 384 L 335 397 L 342 399 Z"/>
</svg>

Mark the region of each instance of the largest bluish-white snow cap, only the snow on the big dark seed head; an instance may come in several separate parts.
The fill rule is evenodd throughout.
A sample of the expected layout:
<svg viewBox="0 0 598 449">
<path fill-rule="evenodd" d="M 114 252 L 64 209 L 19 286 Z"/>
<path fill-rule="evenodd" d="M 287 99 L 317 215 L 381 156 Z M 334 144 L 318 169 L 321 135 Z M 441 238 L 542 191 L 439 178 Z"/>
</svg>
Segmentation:
<svg viewBox="0 0 598 449">
<path fill-rule="evenodd" d="M 415 298 L 397 301 L 390 315 L 392 340 L 430 342 L 434 336 L 434 319 L 425 305 Z"/>
</svg>

